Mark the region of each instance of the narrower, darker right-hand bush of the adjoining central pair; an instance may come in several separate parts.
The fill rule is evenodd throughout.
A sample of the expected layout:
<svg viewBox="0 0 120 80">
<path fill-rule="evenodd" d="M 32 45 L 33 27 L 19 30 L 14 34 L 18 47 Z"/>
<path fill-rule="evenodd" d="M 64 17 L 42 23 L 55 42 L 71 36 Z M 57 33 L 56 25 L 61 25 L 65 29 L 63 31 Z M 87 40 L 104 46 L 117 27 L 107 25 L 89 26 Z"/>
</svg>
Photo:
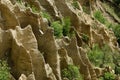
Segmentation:
<svg viewBox="0 0 120 80">
<path fill-rule="evenodd" d="M 65 17 L 62 19 L 63 35 L 64 36 L 69 36 L 70 25 L 71 25 L 70 18 Z"/>
</svg>

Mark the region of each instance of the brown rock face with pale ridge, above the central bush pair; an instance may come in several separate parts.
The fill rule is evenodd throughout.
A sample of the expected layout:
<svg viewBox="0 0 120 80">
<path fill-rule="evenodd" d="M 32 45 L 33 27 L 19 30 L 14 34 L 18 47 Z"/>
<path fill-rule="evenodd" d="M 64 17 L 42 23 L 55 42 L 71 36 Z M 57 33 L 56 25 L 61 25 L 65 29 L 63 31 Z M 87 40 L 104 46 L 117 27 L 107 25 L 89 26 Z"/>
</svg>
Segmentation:
<svg viewBox="0 0 120 80">
<path fill-rule="evenodd" d="M 80 22 L 77 14 L 78 12 L 73 9 L 70 2 L 66 2 L 65 0 L 55 0 L 55 5 L 64 17 L 70 17 L 71 23 L 75 29 L 79 29 Z"/>
</svg>

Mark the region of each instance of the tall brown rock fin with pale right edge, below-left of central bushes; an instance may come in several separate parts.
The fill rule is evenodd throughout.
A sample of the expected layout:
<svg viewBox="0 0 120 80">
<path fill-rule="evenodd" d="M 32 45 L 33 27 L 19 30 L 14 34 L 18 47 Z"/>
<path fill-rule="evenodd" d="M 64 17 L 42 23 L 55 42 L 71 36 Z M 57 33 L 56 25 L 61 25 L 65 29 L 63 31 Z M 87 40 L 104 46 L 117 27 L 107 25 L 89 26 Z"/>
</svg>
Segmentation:
<svg viewBox="0 0 120 80">
<path fill-rule="evenodd" d="M 45 34 L 39 37 L 39 50 L 43 52 L 46 63 L 49 63 L 58 80 L 60 79 L 59 55 L 53 36 L 53 30 L 48 29 Z"/>
</svg>

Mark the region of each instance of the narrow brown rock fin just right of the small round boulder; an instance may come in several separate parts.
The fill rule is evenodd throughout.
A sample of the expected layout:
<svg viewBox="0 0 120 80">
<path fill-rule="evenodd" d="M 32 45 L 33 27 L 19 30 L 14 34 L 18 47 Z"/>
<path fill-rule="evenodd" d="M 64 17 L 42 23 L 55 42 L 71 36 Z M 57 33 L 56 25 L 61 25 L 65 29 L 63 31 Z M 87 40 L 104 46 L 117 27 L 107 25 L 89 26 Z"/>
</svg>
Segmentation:
<svg viewBox="0 0 120 80">
<path fill-rule="evenodd" d="M 85 80 L 91 80 L 87 65 L 82 61 L 76 39 L 72 39 L 70 45 L 66 47 L 68 55 L 73 59 L 75 65 L 80 66 L 80 71 L 84 74 Z"/>
</svg>

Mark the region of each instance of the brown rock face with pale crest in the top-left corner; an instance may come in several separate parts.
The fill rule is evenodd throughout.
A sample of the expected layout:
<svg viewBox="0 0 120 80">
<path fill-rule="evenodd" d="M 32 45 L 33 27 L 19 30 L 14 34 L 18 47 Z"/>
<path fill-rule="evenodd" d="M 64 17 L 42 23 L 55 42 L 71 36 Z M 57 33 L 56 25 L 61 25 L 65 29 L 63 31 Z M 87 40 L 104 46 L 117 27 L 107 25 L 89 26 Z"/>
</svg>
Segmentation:
<svg viewBox="0 0 120 80">
<path fill-rule="evenodd" d="M 0 16 L 2 29 L 14 29 L 18 25 L 18 20 L 13 12 L 13 5 L 9 0 L 1 0 L 0 2 Z"/>
</svg>

